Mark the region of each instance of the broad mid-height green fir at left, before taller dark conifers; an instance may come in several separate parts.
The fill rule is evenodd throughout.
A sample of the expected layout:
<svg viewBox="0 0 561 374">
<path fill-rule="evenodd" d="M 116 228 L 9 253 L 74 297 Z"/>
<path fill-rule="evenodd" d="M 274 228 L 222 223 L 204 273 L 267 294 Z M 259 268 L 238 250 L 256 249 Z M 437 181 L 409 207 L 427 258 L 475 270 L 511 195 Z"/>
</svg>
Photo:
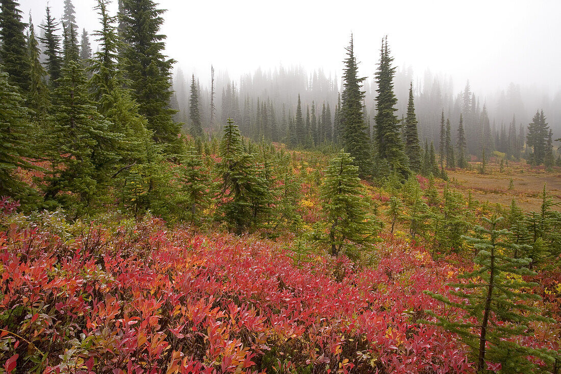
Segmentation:
<svg viewBox="0 0 561 374">
<path fill-rule="evenodd" d="M 54 91 L 52 129 L 48 138 L 51 167 L 45 200 L 62 203 L 75 217 L 100 195 L 117 163 L 117 136 L 88 98 L 84 69 L 68 61 Z"/>
</svg>

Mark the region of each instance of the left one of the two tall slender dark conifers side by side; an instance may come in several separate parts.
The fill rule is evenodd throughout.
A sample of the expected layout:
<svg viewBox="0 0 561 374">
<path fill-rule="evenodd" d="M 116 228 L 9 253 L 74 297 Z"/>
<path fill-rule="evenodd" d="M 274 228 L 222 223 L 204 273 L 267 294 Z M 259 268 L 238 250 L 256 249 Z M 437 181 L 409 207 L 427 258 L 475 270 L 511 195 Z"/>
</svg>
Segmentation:
<svg viewBox="0 0 561 374">
<path fill-rule="evenodd" d="M 366 79 L 358 77 L 358 63 L 355 57 L 353 38 L 345 48 L 347 58 L 344 60 L 343 71 L 344 90 L 341 97 L 341 140 L 344 149 L 351 154 L 355 165 L 358 166 L 358 175 L 370 175 L 372 165 L 370 161 L 370 142 L 366 134 L 366 124 L 362 115 L 362 101 L 364 91 L 361 90 L 362 82 Z"/>
</svg>

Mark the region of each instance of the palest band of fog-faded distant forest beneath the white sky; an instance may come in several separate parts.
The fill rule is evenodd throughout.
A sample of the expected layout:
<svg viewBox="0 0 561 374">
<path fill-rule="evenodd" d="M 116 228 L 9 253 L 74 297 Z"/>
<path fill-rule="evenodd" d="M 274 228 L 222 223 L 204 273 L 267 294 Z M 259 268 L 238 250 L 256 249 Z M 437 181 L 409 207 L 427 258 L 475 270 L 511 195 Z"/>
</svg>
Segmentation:
<svg viewBox="0 0 561 374">
<path fill-rule="evenodd" d="M 335 48 L 335 46 L 333 46 Z M 394 47 L 396 48 L 396 47 Z M 344 45 L 339 46 L 342 55 Z M 360 56 L 358 57 L 360 58 Z M 453 133 L 457 133 L 459 116 L 462 111 L 471 113 L 472 125 L 482 126 L 482 111 L 486 109 L 490 124 L 491 135 L 494 142 L 499 142 L 500 132 L 503 126 L 508 129 L 513 123 L 516 131 L 519 127 L 526 129 L 537 110 L 543 110 L 546 114 L 548 124 L 553 130 L 554 139 L 561 137 L 561 89 L 553 95 L 547 90 L 537 86 L 522 86 L 511 83 L 503 89 L 491 93 L 480 93 L 472 88 L 469 81 L 454 82 L 451 76 L 435 74 L 430 70 L 425 72 L 414 72 L 410 66 L 399 66 L 399 61 L 394 61 L 397 70 L 394 77 L 394 87 L 398 98 L 397 115 L 401 117 L 407 111 L 407 97 L 410 83 L 413 83 L 413 94 L 415 95 L 416 114 L 419 120 L 419 136 L 421 140 L 429 139 L 438 144 L 440 115 L 444 115 L 452 123 Z M 360 66 L 361 71 L 367 70 Z M 369 69 L 374 71 L 375 67 Z M 201 69 L 197 69 L 200 71 Z M 209 123 L 209 84 L 206 83 L 209 73 L 204 74 L 205 80 L 201 81 L 195 76 L 197 90 L 200 92 L 201 113 L 205 127 L 211 128 Z M 192 73 L 183 71 L 177 67 L 173 79 L 173 88 L 177 100 L 179 113 L 177 120 L 185 122 L 188 126 L 188 97 L 190 95 L 190 77 Z M 515 80 L 516 77 L 513 77 Z M 337 104 L 337 95 L 341 92 L 342 82 L 340 74 L 327 74 L 324 70 L 306 71 L 301 66 L 284 67 L 274 69 L 258 69 L 254 72 L 242 74 L 239 78 L 231 78 L 228 72 L 217 71 L 215 73 L 216 105 L 221 122 L 232 117 L 237 122 L 245 123 L 255 120 L 257 99 L 261 103 L 266 102 L 274 110 L 274 119 L 280 124 L 282 122 L 282 111 L 286 116 L 294 115 L 296 111 L 298 94 L 301 96 L 304 108 L 312 107 L 314 104 L 316 116 L 321 115 L 321 106 L 329 104 L 333 108 Z M 364 82 L 362 89 L 365 91 L 365 110 L 370 127 L 374 126 L 373 118 L 376 115 L 375 97 L 376 83 L 371 74 Z M 228 94 L 227 94 L 228 93 Z M 231 99 L 233 97 L 233 99 Z M 466 100 L 469 99 L 469 102 Z M 234 100 L 233 103 L 228 100 Z M 246 103 L 246 101 L 248 101 Z M 229 108 L 231 105 L 233 107 Z M 285 120 L 286 121 L 286 120 Z M 214 124 L 214 129 L 218 129 Z M 474 132 L 476 129 L 473 129 Z M 469 130 L 468 130 L 469 131 Z M 245 135 L 250 135 L 244 132 Z M 280 136 L 278 141 L 283 139 Z M 555 144 L 558 144 L 557 142 Z M 472 149 L 475 152 L 475 149 Z"/>
</svg>

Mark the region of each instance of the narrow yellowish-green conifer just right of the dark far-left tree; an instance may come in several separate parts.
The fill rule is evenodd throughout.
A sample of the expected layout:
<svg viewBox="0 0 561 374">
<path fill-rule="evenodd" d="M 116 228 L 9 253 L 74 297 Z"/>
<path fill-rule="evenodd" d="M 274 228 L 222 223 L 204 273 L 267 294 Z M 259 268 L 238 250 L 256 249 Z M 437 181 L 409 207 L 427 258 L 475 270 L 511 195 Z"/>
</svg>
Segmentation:
<svg viewBox="0 0 561 374">
<path fill-rule="evenodd" d="M 27 105 L 34 112 L 33 117 L 44 117 L 49 106 L 49 92 L 45 84 L 47 72 L 39 61 L 41 51 L 39 43 L 35 38 L 35 28 L 31 17 L 29 17 L 29 36 L 27 37 L 27 53 L 29 56 L 29 92 L 27 93 Z"/>
</svg>

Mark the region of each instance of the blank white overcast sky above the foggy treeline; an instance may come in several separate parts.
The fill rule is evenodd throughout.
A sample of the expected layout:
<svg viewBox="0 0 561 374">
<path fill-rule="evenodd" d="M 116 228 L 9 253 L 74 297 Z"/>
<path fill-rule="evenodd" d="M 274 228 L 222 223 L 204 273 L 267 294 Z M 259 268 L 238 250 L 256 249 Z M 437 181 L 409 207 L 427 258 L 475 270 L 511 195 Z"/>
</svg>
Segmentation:
<svg viewBox="0 0 561 374">
<path fill-rule="evenodd" d="M 54 16 L 62 15 L 62 3 L 49 1 Z M 80 29 L 97 29 L 96 2 L 73 3 Z M 20 4 L 39 25 L 47 1 Z M 427 67 L 452 75 L 455 90 L 466 79 L 478 92 L 511 81 L 547 93 L 561 89 L 559 0 L 161 0 L 160 7 L 168 10 L 162 27 L 167 54 L 203 83 L 211 63 L 233 77 L 281 63 L 340 76 L 352 31 L 363 76 L 373 76 L 380 39 L 388 34 L 396 65 L 411 65 L 421 77 Z"/>
</svg>

